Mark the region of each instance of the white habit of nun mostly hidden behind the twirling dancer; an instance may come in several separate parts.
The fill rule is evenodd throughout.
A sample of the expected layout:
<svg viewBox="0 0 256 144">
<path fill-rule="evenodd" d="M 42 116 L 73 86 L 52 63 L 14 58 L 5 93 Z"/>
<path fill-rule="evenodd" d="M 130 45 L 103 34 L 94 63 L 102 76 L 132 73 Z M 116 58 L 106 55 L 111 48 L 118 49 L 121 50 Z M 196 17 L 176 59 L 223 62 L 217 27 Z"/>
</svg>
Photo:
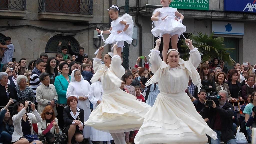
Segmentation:
<svg viewBox="0 0 256 144">
<path fill-rule="evenodd" d="M 97 81 L 93 83 L 91 86 L 90 93 L 88 95 L 89 100 L 93 104 L 93 110 L 95 110 L 102 101 L 103 96 L 103 88 L 100 82 Z M 107 144 L 110 144 L 110 141 L 113 140 L 112 136 L 108 132 L 99 131 L 93 127 L 91 127 L 91 140 L 92 141 L 99 141 L 100 144 L 103 144 L 103 141 L 107 141 Z"/>
</svg>

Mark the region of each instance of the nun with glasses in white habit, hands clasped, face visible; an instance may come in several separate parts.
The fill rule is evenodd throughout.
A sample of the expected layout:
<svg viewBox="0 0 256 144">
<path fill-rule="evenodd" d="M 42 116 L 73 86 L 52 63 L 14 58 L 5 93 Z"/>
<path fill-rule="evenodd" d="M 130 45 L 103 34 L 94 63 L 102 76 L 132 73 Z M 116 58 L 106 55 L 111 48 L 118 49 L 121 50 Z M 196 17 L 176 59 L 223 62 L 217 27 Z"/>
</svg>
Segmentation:
<svg viewBox="0 0 256 144">
<path fill-rule="evenodd" d="M 71 96 L 78 99 L 77 107 L 84 110 L 84 121 L 88 120 L 91 114 L 90 102 L 87 96 L 90 92 L 90 89 L 91 85 L 87 80 L 83 79 L 81 72 L 78 69 L 73 70 L 71 74 L 71 82 L 67 89 L 67 99 Z M 91 127 L 85 126 L 83 129 L 83 137 L 85 139 L 89 139 L 89 143 L 92 143 L 90 136 Z"/>
</svg>

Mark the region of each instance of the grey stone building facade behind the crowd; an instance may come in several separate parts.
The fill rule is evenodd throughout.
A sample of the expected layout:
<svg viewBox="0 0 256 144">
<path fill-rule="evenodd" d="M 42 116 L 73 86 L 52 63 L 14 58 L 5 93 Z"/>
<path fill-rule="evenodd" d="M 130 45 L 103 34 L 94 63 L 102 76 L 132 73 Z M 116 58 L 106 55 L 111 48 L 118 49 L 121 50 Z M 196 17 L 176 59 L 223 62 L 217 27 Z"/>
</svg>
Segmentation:
<svg viewBox="0 0 256 144">
<path fill-rule="evenodd" d="M 225 37 L 227 47 L 236 48 L 231 54 L 235 61 L 256 63 L 253 29 L 256 15 L 253 9 L 251 13 L 226 11 L 228 0 L 174 1 L 184 4 L 201 1 L 209 3 L 209 10 L 178 9 L 185 16 L 183 24 L 187 27 L 186 33 L 196 34 L 201 31 L 210 34 L 213 28 L 222 23 L 230 23 L 232 26 L 236 23 L 242 24 L 243 28 L 240 28 L 244 30 L 244 34 L 216 33 L 215 36 Z M 235 0 L 234 3 L 238 1 L 240 0 Z M 120 14 L 124 13 L 125 0 L 23 0 L 16 5 L 14 0 L 0 0 L 0 40 L 5 36 L 12 38 L 15 46 L 13 58 L 16 61 L 26 58 L 29 62 L 37 59 L 42 52 L 47 52 L 48 57 L 55 56 L 59 40 L 57 37 L 63 38 L 63 45 L 71 39 L 74 42 L 74 51 L 77 52 L 79 47 L 83 47 L 89 58 L 93 58 L 97 46 L 104 45 L 102 40 L 99 43 L 99 39 L 94 39 L 94 30 L 96 27 L 104 30 L 110 28 L 111 21 L 107 11 L 110 5 L 118 5 L 121 7 Z M 134 35 L 133 45 L 129 48 L 131 67 L 140 55 L 147 56 L 154 47 L 155 38 L 150 31 L 150 18 L 159 5 L 160 0 L 129 0 L 129 14 L 133 16 L 134 26 L 137 28 L 137 35 Z M 140 7 L 138 14 L 137 7 Z M 104 37 L 107 38 L 108 35 Z M 109 52 L 109 48 L 106 46 L 104 52 Z"/>
</svg>

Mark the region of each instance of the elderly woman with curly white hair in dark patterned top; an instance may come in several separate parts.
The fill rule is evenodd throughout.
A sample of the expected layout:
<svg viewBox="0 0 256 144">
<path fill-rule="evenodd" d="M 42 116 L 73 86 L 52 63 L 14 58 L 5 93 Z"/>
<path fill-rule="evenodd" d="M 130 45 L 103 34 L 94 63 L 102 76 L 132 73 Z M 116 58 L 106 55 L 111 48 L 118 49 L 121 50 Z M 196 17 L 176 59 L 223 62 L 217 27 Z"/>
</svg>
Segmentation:
<svg viewBox="0 0 256 144">
<path fill-rule="evenodd" d="M 27 86 L 28 79 L 26 76 L 20 75 L 17 79 L 18 86 L 16 87 L 17 95 L 20 101 L 31 101 L 35 103 L 34 91 Z"/>
</svg>

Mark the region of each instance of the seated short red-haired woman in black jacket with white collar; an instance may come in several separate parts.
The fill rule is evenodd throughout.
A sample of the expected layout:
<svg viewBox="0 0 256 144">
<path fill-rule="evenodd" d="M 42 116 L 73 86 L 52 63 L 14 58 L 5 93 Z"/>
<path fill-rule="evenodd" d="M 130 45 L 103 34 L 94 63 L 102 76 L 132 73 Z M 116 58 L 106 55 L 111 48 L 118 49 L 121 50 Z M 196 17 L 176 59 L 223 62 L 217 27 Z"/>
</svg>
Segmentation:
<svg viewBox="0 0 256 144">
<path fill-rule="evenodd" d="M 82 142 L 84 128 L 84 110 L 77 107 L 78 100 L 74 96 L 68 97 L 67 105 L 63 111 L 63 119 L 65 123 L 64 133 L 68 136 L 68 144 L 75 140 Z"/>
</svg>

